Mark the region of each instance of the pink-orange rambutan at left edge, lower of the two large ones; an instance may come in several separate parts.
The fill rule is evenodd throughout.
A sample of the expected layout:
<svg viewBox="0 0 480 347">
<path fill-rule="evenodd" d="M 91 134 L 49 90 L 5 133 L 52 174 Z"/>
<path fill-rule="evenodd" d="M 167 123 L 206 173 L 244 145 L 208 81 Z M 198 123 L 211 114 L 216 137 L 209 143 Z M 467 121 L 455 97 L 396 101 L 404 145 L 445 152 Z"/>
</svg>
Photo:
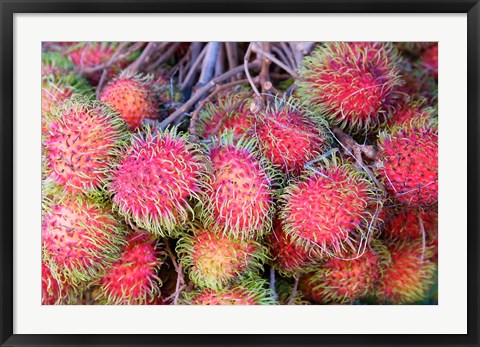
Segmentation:
<svg viewBox="0 0 480 347">
<path fill-rule="evenodd" d="M 44 259 L 66 283 L 92 281 L 117 260 L 125 230 L 108 207 L 63 196 L 46 202 L 43 213 Z"/>
</svg>

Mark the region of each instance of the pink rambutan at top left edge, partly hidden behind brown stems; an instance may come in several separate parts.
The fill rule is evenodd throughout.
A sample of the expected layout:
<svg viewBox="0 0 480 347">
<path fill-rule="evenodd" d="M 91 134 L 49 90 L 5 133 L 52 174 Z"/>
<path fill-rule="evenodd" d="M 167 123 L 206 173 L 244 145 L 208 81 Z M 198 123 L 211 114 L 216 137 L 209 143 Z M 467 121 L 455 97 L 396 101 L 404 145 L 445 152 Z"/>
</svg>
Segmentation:
<svg viewBox="0 0 480 347">
<path fill-rule="evenodd" d="M 68 55 L 80 71 L 104 64 L 110 60 L 117 47 L 114 44 L 89 42 L 86 44 L 69 43 L 71 46 Z M 120 60 L 107 68 L 107 77 L 111 78 L 128 65 L 127 59 Z M 85 77 L 96 86 L 100 82 L 103 69 L 85 74 Z"/>
</svg>

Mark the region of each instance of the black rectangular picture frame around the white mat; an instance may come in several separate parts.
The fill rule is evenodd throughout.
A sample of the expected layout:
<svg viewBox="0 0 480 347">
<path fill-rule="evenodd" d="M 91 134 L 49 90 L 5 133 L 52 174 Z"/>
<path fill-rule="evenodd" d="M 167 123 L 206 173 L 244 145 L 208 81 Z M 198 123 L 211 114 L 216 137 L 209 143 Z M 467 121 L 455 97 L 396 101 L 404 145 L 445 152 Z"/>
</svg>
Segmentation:
<svg viewBox="0 0 480 347">
<path fill-rule="evenodd" d="M 115 6 L 112 6 L 112 4 Z M 2 346 L 442 345 L 479 346 L 479 17 L 478 0 L 0 0 Z M 13 16 L 15 13 L 467 13 L 468 334 L 466 335 L 20 335 L 13 334 Z M 455 319 L 455 317 L 451 317 Z"/>
</svg>

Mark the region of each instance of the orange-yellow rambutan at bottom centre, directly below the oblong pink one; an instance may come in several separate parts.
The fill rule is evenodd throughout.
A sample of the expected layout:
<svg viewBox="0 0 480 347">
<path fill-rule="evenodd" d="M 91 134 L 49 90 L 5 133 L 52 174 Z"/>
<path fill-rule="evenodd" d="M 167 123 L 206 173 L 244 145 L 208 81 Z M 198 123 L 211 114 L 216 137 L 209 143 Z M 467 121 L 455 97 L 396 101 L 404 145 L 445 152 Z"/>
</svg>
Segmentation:
<svg viewBox="0 0 480 347">
<path fill-rule="evenodd" d="M 266 249 L 254 240 L 229 238 L 204 228 L 184 234 L 176 250 L 190 280 L 200 288 L 215 290 L 257 274 L 267 259 Z"/>
</svg>

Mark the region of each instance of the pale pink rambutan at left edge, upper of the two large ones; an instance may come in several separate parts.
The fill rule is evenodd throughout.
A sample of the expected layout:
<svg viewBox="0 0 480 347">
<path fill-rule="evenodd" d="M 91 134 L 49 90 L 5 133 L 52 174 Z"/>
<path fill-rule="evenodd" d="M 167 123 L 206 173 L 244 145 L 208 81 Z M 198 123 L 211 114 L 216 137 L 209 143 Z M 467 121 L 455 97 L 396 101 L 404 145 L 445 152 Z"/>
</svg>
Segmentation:
<svg viewBox="0 0 480 347">
<path fill-rule="evenodd" d="M 49 177 L 65 192 L 103 189 L 127 138 L 121 118 L 103 104 L 66 100 L 48 114 L 43 145 Z"/>
</svg>

